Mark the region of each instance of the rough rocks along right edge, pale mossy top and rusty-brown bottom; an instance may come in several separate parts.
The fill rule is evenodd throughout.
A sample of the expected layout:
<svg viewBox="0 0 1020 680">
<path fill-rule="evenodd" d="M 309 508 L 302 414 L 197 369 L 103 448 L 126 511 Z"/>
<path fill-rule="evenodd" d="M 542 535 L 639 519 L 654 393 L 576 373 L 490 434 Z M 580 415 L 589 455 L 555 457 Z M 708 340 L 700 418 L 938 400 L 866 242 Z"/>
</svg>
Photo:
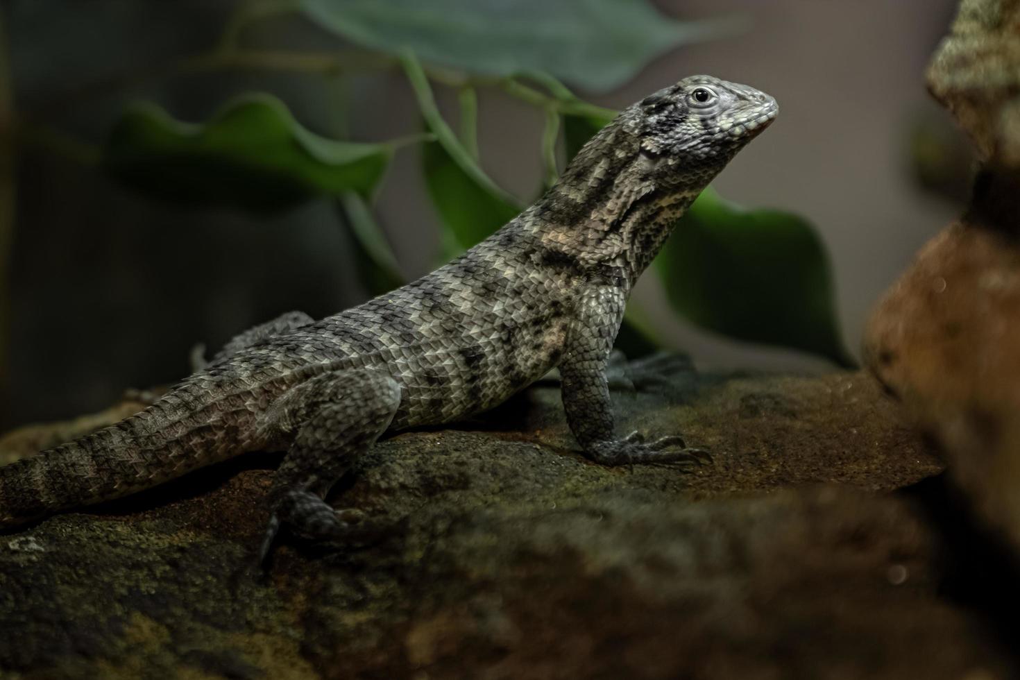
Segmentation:
<svg viewBox="0 0 1020 680">
<path fill-rule="evenodd" d="M 983 166 L 865 331 L 865 361 L 1020 556 L 1020 2 L 964 0 L 928 69 Z"/>
</svg>

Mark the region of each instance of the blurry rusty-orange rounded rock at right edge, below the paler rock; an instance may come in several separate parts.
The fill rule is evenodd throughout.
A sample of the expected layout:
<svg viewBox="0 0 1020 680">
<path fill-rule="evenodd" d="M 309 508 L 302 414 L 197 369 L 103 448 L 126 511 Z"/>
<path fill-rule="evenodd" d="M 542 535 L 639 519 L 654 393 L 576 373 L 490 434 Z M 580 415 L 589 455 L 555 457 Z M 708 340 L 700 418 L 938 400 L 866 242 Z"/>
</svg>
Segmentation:
<svg viewBox="0 0 1020 680">
<path fill-rule="evenodd" d="M 1020 245 L 957 223 L 879 303 L 867 363 L 1020 551 Z"/>
</svg>

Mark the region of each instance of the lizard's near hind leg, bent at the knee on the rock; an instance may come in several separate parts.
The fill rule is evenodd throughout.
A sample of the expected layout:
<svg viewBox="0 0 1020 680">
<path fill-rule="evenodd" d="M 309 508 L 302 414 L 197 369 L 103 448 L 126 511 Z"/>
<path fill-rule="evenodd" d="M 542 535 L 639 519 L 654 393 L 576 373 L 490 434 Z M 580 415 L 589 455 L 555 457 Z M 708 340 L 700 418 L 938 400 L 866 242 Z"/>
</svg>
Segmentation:
<svg viewBox="0 0 1020 680">
<path fill-rule="evenodd" d="M 277 440 L 289 440 L 290 448 L 269 492 L 272 515 L 260 564 L 282 524 L 320 540 L 356 533 L 360 513 L 335 511 L 323 499 L 389 428 L 400 400 L 400 383 L 388 374 L 342 369 L 307 380 L 269 407 L 263 426 Z"/>
</svg>

